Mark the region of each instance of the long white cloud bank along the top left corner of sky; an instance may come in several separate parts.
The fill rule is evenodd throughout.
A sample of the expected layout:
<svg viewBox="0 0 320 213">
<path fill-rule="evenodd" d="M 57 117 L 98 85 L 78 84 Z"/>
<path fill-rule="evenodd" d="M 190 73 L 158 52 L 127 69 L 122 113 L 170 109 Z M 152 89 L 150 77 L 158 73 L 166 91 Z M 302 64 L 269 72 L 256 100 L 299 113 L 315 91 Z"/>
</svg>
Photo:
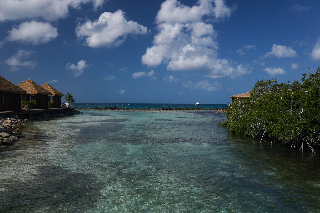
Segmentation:
<svg viewBox="0 0 320 213">
<path fill-rule="evenodd" d="M 0 21 L 42 18 L 54 21 L 65 18 L 69 9 L 92 3 L 96 10 L 105 0 L 0 0 Z"/>
</svg>

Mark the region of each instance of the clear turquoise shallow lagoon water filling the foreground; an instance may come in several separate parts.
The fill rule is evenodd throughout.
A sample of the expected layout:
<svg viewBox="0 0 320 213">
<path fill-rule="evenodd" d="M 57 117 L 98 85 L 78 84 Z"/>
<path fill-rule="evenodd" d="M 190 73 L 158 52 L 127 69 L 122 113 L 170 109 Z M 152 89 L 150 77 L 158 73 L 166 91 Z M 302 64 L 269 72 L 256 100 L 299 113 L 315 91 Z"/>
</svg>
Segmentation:
<svg viewBox="0 0 320 213">
<path fill-rule="evenodd" d="M 320 159 L 231 135 L 212 111 L 37 121 L 0 152 L 0 212 L 318 212 Z"/>
</svg>

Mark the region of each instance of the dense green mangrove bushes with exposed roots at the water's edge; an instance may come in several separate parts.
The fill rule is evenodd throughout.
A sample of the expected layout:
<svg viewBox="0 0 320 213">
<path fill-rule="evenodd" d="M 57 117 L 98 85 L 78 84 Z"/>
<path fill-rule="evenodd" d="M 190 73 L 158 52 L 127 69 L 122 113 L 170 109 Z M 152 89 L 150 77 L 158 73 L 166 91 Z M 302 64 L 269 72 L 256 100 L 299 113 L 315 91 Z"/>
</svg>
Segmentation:
<svg viewBox="0 0 320 213">
<path fill-rule="evenodd" d="M 250 98 L 238 98 L 227 108 L 226 117 L 218 124 L 231 133 L 315 154 L 320 149 L 320 67 L 308 76 L 304 73 L 301 83 L 258 81 Z"/>
</svg>

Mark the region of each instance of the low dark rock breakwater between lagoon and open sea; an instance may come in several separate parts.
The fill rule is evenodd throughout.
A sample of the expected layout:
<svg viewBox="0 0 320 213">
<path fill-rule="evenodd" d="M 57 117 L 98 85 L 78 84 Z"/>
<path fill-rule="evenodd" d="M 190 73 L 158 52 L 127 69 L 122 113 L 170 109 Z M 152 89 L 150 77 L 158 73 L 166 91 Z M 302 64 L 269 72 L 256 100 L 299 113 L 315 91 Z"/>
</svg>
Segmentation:
<svg viewBox="0 0 320 213">
<path fill-rule="evenodd" d="M 170 108 L 170 107 L 163 107 L 163 108 L 158 108 L 158 109 L 151 109 L 151 108 L 141 108 L 141 109 L 130 109 L 127 107 L 116 107 L 116 106 L 111 106 L 111 107 L 92 107 L 92 108 L 77 108 L 79 110 L 218 110 L 218 112 L 225 112 L 227 108 L 200 108 L 200 107 L 194 107 L 194 108 L 189 108 L 189 107 L 176 107 L 176 108 Z"/>
</svg>

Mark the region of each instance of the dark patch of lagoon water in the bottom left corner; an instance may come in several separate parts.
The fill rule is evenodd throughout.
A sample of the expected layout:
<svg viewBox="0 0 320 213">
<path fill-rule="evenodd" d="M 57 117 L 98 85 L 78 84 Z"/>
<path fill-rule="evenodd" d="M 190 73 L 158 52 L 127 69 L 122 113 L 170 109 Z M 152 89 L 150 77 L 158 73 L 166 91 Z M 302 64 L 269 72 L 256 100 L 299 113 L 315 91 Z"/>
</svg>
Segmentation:
<svg viewBox="0 0 320 213">
<path fill-rule="evenodd" d="M 2 180 L 9 188 L 1 193 L 2 212 L 83 211 L 94 206 L 101 196 L 100 186 L 105 184 L 93 174 L 71 172 L 60 166 L 40 166 L 37 171 L 26 181 Z"/>
</svg>

